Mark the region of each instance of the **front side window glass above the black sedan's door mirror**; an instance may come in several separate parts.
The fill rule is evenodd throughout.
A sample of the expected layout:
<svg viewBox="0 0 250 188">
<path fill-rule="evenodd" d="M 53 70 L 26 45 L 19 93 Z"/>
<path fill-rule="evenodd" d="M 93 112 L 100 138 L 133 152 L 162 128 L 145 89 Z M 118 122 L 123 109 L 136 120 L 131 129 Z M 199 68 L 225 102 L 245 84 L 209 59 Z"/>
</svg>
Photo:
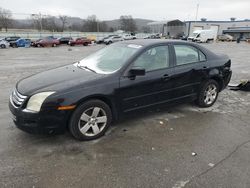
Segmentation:
<svg viewBox="0 0 250 188">
<path fill-rule="evenodd" d="M 168 46 L 158 46 L 147 50 L 137 58 L 134 66 L 144 68 L 146 72 L 168 68 Z"/>
</svg>

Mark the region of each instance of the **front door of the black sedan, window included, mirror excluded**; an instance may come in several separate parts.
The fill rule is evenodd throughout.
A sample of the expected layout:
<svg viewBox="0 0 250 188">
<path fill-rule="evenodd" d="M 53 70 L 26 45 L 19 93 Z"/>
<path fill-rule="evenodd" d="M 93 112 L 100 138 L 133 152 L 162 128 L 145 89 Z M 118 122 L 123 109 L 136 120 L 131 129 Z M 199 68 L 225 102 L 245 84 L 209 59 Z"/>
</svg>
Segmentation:
<svg viewBox="0 0 250 188">
<path fill-rule="evenodd" d="M 144 68 L 144 76 L 120 78 L 119 98 L 122 112 L 169 102 L 172 97 L 174 68 L 168 45 L 144 51 L 131 67 Z M 130 67 L 130 68 L 131 68 Z"/>
</svg>

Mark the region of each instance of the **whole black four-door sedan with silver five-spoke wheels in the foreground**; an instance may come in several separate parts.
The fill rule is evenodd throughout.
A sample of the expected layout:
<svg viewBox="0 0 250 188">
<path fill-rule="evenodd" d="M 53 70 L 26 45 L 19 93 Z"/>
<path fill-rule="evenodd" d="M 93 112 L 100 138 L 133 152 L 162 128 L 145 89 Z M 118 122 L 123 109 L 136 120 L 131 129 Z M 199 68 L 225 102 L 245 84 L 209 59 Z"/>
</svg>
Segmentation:
<svg viewBox="0 0 250 188">
<path fill-rule="evenodd" d="M 231 60 L 184 41 L 112 44 L 76 62 L 16 84 L 9 108 L 18 128 L 79 140 L 104 135 L 130 112 L 196 101 L 212 106 L 231 78 Z"/>
</svg>

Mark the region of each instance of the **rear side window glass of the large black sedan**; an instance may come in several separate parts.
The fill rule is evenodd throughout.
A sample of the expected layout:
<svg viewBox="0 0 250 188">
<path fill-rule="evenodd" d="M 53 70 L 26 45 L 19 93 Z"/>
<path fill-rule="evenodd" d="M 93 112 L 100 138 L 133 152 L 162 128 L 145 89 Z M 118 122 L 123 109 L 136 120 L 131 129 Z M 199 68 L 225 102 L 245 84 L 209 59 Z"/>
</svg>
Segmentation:
<svg viewBox="0 0 250 188">
<path fill-rule="evenodd" d="M 188 45 L 174 45 L 176 64 L 185 65 L 205 61 L 205 55 L 198 49 Z"/>
</svg>

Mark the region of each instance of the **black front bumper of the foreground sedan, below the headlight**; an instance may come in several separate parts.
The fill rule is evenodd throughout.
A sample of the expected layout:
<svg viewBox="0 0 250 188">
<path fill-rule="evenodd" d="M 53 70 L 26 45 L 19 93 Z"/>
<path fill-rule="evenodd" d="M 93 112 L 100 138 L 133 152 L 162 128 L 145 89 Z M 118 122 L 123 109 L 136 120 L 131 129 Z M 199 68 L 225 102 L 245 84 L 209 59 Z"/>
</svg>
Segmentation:
<svg viewBox="0 0 250 188">
<path fill-rule="evenodd" d="M 39 113 L 27 112 L 16 108 L 11 99 L 9 109 L 17 128 L 32 134 L 62 134 L 67 128 L 70 111 L 56 109 L 43 110 Z"/>
</svg>

